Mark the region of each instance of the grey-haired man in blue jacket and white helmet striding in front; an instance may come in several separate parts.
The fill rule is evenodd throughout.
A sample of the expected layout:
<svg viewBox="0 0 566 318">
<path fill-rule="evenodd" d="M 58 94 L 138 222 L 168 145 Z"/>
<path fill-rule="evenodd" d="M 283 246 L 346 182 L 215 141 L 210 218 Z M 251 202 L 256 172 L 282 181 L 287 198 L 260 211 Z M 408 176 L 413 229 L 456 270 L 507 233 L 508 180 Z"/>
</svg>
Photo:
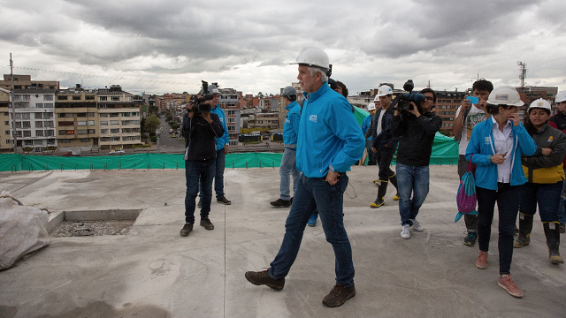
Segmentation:
<svg viewBox="0 0 566 318">
<path fill-rule="evenodd" d="M 363 155 L 364 140 L 352 106 L 327 84 L 328 56 L 321 49 L 304 48 L 292 64 L 299 64 L 299 84 L 304 92 L 297 138 L 297 170 L 302 176 L 285 223 L 285 236 L 270 269 L 246 273 L 251 284 L 280 291 L 299 253 L 302 234 L 317 208 L 326 241 L 333 246 L 335 285 L 323 304 L 339 307 L 356 296 L 352 247 L 344 228 L 343 194 L 346 171 Z M 316 269 L 313 269 L 316 270 Z"/>
</svg>

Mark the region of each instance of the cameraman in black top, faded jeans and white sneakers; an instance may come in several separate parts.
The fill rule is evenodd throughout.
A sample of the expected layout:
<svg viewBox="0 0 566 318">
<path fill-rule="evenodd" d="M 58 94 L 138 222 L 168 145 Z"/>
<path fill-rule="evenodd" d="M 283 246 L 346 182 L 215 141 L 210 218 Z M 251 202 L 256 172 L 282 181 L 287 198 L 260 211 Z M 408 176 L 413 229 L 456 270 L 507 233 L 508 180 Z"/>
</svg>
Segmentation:
<svg viewBox="0 0 566 318">
<path fill-rule="evenodd" d="M 436 94 L 431 88 L 419 92 L 424 102 L 410 102 L 411 108 L 401 113 L 394 108 L 391 132 L 401 137 L 397 149 L 397 186 L 399 186 L 399 214 L 402 222 L 402 239 L 410 238 L 410 228 L 424 231 L 417 222 L 419 208 L 423 205 L 429 189 L 429 161 L 431 160 L 434 135 L 442 127 L 442 118 L 431 110 L 436 103 Z M 412 193 L 412 199 L 411 199 Z"/>
</svg>

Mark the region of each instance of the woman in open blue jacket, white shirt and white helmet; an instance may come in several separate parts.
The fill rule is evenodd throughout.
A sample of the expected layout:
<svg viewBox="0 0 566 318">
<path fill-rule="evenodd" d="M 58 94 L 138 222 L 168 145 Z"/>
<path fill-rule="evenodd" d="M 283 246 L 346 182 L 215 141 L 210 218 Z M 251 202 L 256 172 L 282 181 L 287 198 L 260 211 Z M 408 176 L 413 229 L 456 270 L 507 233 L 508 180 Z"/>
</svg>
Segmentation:
<svg viewBox="0 0 566 318">
<path fill-rule="evenodd" d="M 519 209 L 521 186 L 527 182 L 521 166 L 521 155 L 534 155 L 537 145 L 521 124 L 517 110 L 523 106 L 514 87 L 493 89 L 486 111 L 492 117 L 478 124 L 471 133 L 466 160 L 476 163 L 478 193 L 478 269 L 486 269 L 487 252 L 495 202 L 499 211 L 498 284 L 514 297 L 523 292 L 511 279 L 513 235 Z"/>
</svg>

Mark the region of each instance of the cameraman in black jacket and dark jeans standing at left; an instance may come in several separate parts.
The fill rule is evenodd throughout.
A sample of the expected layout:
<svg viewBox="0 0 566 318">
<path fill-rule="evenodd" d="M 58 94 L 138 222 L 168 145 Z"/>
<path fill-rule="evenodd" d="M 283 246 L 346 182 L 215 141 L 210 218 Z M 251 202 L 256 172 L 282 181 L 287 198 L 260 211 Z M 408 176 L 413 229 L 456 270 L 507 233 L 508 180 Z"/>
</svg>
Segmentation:
<svg viewBox="0 0 566 318">
<path fill-rule="evenodd" d="M 197 97 L 201 96 L 197 95 Z M 201 192 L 203 193 L 201 225 L 206 230 L 214 230 L 214 225 L 210 223 L 209 213 L 212 200 L 212 179 L 216 173 L 215 138 L 222 137 L 224 128 L 222 128 L 218 115 L 210 114 L 208 103 L 210 101 L 200 102 L 200 104 L 189 103 L 181 125 L 181 132 L 185 138 L 185 177 L 187 180 L 185 226 L 180 231 L 181 236 L 187 236 L 193 231 L 195 198 L 199 190 L 199 180 L 202 183 Z"/>
</svg>

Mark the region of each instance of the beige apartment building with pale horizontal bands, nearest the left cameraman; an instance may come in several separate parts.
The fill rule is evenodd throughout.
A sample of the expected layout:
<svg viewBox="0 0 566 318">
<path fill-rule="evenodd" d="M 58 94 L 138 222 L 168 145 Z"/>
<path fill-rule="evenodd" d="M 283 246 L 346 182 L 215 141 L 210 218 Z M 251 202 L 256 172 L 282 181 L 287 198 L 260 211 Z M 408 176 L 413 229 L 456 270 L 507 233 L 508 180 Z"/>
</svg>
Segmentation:
<svg viewBox="0 0 566 318">
<path fill-rule="evenodd" d="M 134 103 L 134 95 L 122 90 L 119 85 L 97 90 L 99 146 L 101 150 L 111 148 L 133 148 L 140 143 L 140 107 Z"/>
</svg>

